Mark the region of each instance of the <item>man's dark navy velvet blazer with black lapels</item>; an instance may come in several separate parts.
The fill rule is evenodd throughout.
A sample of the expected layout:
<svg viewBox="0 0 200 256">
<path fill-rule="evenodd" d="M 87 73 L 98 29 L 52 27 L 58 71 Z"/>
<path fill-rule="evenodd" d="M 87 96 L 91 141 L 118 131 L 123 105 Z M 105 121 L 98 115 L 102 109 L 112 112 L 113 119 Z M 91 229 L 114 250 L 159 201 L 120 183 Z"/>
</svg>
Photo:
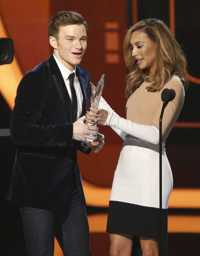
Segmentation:
<svg viewBox="0 0 200 256">
<path fill-rule="evenodd" d="M 78 65 L 76 75 L 83 94 L 84 116 L 90 75 Z M 77 149 L 87 154 L 91 149 L 72 139 L 72 104 L 53 55 L 22 78 L 10 134 L 18 148 L 7 200 L 40 209 L 58 209 L 66 197 L 73 169 L 85 201 Z"/>
</svg>

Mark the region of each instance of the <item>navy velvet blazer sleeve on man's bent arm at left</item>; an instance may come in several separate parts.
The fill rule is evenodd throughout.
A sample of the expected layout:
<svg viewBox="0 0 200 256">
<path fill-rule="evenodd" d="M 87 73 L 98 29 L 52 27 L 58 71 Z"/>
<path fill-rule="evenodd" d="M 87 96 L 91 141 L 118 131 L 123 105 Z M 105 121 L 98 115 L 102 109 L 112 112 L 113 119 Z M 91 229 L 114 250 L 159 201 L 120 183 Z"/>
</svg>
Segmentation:
<svg viewBox="0 0 200 256">
<path fill-rule="evenodd" d="M 72 123 L 41 125 L 47 90 L 44 75 L 28 72 L 21 80 L 10 123 L 12 142 L 28 146 L 73 146 Z"/>
</svg>

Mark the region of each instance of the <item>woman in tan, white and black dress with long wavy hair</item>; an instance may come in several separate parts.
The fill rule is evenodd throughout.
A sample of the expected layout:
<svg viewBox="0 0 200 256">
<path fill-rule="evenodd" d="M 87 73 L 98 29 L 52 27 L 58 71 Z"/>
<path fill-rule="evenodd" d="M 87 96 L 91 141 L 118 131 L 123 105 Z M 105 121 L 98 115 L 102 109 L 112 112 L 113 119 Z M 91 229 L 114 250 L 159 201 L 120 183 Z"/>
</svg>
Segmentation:
<svg viewBox="0 0 200 256">
<path fill-rule="evenodd" d="M 167 256 L 167 209 L 173 179 L 164 146 L 184 103 L 186 59 L 168 26 L 151 18 L 127 31 L 124 59 L 129 69 L 127 119 L 120 118 L 104 99 L 101 109 L 86 115 L 88 122 L 109 125 L 124 139 L 108 211 L 110 255 L 130 256 L 134 237 L 139 237 L 142 255 L 158 256 L 159 119 L 161 93 L 168 88 L 176 91 L 176 97 L 162 119 L 162 256 Z"/>
</svg>

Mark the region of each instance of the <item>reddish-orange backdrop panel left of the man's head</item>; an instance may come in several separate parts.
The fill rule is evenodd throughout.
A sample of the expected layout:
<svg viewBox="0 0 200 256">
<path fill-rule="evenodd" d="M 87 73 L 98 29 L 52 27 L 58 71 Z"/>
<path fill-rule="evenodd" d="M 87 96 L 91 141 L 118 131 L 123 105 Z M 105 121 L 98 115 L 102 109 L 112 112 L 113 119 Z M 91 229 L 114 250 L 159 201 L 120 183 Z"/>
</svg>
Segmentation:
<svg viewBox="0 0 200 256">
<path fill-rule="evenodd" d="M 0 11 L 8 37 L 23 74 L 48 58 L 49 0 L 0 0 Z"/>
</svg>

